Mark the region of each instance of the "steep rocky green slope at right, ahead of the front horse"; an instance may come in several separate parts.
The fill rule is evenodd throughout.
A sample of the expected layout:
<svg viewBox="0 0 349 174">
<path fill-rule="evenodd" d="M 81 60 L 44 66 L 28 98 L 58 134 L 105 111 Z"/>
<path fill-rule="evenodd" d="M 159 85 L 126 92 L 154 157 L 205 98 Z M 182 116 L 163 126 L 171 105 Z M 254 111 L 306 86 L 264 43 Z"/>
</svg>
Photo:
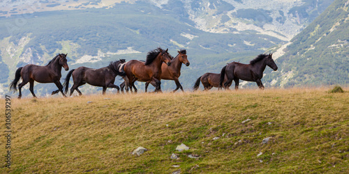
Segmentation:
<svg viewBox="0 0 349 174">
<path fill-rule="evenodd" d="M 336 0 L 291 40 L 277 59 L 274 86 L 349 83 L 349 1 Z M 277 78 L 276 78 L 277 77 Z"/>
</svg>

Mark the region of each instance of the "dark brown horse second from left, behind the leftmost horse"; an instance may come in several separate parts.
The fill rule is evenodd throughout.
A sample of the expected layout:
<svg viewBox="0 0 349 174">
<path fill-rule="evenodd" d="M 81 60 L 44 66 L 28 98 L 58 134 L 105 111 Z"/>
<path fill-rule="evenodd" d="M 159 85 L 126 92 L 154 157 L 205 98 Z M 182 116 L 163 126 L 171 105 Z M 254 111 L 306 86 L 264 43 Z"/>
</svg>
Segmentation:
<svg viewBox="0 0 349 174">
<path fill-rule="evenodd" d="M 75 70 L 70 70 L 66 75 L 64 81 L 64 93 L 68 93 L 69 79 L 73 75 L 74 84 L 70 88 L 70 96 L 73 94 L 74 90 L 82 95 L 81 91 L 78 89 L 79 86 L 84 84 L 90 84 L 91 86 L 101 86 L 103 87 L 103 95 L 107 88 L 117 88 L 117 93 L 119 93 L 119 86 L 114 85 L 115 77 L 117 75 L 124 75 L 123 72 L 119 72 L 119 67 L 122 63 L 125 63 L 125 59 L 120 59 L 120 61 L 111 62 L 107 67 L 92 69 L 86 67 L 79 67 Z M 52 94 L 57 91 L 52 92 Z"/>
</svg>

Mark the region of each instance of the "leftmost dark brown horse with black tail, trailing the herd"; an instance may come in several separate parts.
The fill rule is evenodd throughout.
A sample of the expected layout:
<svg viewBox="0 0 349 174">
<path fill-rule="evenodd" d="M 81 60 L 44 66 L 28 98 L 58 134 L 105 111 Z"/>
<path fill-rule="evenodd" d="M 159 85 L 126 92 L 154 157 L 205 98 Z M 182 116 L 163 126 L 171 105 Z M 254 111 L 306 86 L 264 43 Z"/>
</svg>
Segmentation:
<svg viewBox="0 0 349 174">
<path fill-rule="evenodd" d="M 17 83 L 22 77 L 22 83 L 18 84 L 18 90 L 20 90 L 18 98 L 22 97 L 22 87 L 28 82 L 30 84 L 29 90 L 31 95 L 36 97 L 34 94 L 34 81 L 38 81 L 39 83 L 43 84 L 54 83 L 58 87 L 59 91 L 61 91 L 62 95 L 66 97 L 66 95 L 63 93 L 63 86 L 59 81 L 59 79 L 61 79 L 62 67 L 66 71 L 69 70 L 66 56 L 67 54 L 58 54 L 45 66 L 29 64 L 18 68 L 15 73 L 15 79 L 10 84 L 10 90 L 13 90 L 14 92 L 17 91 Z"/>
</svg>

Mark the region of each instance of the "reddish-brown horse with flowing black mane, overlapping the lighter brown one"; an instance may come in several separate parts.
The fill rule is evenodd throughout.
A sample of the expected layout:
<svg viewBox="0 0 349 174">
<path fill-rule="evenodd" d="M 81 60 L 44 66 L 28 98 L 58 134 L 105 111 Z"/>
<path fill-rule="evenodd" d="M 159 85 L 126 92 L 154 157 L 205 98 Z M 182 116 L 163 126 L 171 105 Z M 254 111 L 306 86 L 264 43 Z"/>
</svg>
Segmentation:
<svg viewBox="0 0 349 174">
<path fill-rule="evenodd" d="M 147 54 L 147 59 L 145 63 L 143 61 L 131 60 L 124 65 L 124 71 L 126 72 L 125 84 L 126 92 L 128 92 L 129 87 L 135 88 L 135 80 L 150 83 L 155 82 L 154 92 L 161 90 L 161 65 L 163 62 L 168 66 L 171 65 L 170 54 L 168 54 L 168 49 L 163 50 L 160 47 L 154 49 Z M 147 92 L 147 91 L 145 91 Z M 137 93 L 137 88 L 135 88 L 135 93 Z"/>
</svg>

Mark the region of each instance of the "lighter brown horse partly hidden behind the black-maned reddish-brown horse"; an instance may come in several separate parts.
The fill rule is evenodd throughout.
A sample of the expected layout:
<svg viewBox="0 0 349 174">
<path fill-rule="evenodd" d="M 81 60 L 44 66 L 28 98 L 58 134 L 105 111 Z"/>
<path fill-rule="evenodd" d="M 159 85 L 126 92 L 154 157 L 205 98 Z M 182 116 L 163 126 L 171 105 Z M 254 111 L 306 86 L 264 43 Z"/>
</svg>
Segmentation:
<svg viewBox="0 0 349 174">
<path fill-rule="evenodd" d="M 176 83 L 177 88 L 174 89 L 173 92 L 176 92 L 179 88 L 181 88 L 181 91 L 184 92 L 183 87 L 181 86 L 181 83 L 179 83 L 179 76 L 181 76 L 182 63 L 186 66 L 191 64 L 189 63 L 188 57 L 186 56 L 186 49 L 181 49 L 180 51 L 178 51 L 178 55 L 172 58 L 170 66 L 166 65 L 165 63 L 161 65 L 160 78 L 162 80 L 173 80 Z M 155 81 L 151 81 L 151 85 L 156 86 Z M 123 92 L 124 86 L 125 86 L 125 82 L 120 84 L 121 92 Z M 149 86 L 149 83 L 146 83 L 145 91 L 147 91 L 148 86 Z"/>
</svg>

